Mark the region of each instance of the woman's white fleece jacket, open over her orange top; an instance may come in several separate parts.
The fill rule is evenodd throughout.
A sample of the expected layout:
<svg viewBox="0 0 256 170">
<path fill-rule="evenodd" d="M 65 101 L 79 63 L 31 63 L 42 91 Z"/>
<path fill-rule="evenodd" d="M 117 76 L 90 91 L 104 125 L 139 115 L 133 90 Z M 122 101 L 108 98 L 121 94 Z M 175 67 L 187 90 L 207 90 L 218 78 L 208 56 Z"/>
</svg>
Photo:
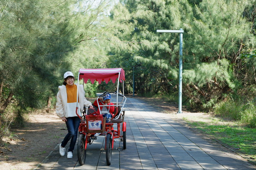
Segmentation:
<svg viewBox="0 0 256 170">
<path fill-rule="evenodd" d="M 77 84 L 75 84 L 77 86 Z M 84 86 L 79 85 L 78 87 L 78 101 L 81 113 L 84 110 L 84 106 L 89 107 L 92 103 L 84 97 Z M 69 117 L 67 113 L 67 90 L 65 85 L 59 86 L 59 92 L 57 93 L 56 102 L 56 114 L 61 117 Z M 82 115 L 80 115 L 82 116 Z"/>
</svg>

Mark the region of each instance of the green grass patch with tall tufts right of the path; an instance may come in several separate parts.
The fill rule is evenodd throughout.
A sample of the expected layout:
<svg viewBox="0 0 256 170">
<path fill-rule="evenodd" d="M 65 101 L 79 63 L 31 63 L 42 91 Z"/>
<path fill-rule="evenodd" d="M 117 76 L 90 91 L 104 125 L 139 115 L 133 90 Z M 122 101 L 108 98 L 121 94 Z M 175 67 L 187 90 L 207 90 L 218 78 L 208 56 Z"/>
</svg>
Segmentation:
<svg viewBox="0 0 256 170">
<path fill-rule="evenodd" d="M 231 148 L 240 148 L 243 154 L 256 158 L 256 102 L 252 100 L 229 99 L 220 102 L 214 107 L 215 115 L 223 118 L 230 118 L 234 125 L 220 125 L 215 122 L 207 124 L 197 124 L 197 128 L 204 133 L 212 135 L 221 143 Z M 222 122 L 224 122 L 222 120 Z M 219 125 L 218 125 L 219 124 Z M 222 123 L 223 124 L 223 123 Z M 195 126 L 196 127 L 196 126 Z"/>
</svg>

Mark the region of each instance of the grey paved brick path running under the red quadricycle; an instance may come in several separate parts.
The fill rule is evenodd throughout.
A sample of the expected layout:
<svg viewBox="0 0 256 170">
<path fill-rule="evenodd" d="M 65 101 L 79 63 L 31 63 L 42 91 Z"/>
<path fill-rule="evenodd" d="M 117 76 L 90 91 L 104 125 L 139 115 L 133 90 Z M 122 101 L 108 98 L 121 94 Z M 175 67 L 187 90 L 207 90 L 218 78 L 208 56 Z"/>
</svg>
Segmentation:
<svg viewBox="0 0 256 170">
<path fill-rule="evenodd" d="M 239 155 L 221 151 L 172 120 L 168 114 L 155 112 L 143 101 L 127 98 L 125 105 L 126 146 L 113 150 L 111 165 L 106 164 L 104 137 L 87 146 L 86 161 L 77 161 L 77 145 L 73 158 L 59 154 L 59 147 L 35 169 L 51 170 L 248 170 L 256 169 Z M 114 144 L 115 145 L 115 144 Z M 116 147 L 122 147 L 116 139 Z"/>
</svg>

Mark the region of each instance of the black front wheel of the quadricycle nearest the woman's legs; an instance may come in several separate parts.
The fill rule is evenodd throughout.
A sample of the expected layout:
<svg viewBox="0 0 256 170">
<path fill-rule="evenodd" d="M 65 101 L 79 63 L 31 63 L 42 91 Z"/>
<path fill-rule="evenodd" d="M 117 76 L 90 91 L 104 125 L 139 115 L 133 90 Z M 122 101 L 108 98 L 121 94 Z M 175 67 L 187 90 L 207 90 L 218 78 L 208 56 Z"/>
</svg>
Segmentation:
<svg viewBox="0 0 256 170">
<path fill-rule="evenodd" d="M 84 134 L 80 134 L 78 138 L 78 143 L 77 143 L 77 158 L 79 164 L 82 166 L 84 165 L 85 158 L 86 158 L 86 149 L 85 149 L 85 139 L 84 139 Z"/>
</svg>

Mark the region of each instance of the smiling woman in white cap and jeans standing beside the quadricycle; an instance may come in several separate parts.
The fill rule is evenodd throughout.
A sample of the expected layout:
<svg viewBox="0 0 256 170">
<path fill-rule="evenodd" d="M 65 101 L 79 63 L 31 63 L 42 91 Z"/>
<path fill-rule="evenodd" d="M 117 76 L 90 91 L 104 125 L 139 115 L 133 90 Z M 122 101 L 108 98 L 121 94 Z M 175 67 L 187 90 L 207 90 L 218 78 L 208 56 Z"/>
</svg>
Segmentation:
<svg viewBox="0 0 256 170">
<path fill-rule="evenodd" d="M 73 150 L 76 144 L 77 131 L 80 123 L 80 118 L 76 115 L 76 94 L 77 84 L 74 84 L 74 75 L 68 71 L 64 74 L 63 85 L 59 86 L 59 92 L 57 93 L 56 102 L 56 114 L 61 118 L 62 121 L 66 122 L 68 134 L 65 136 L 60 144 L 60 156 L 65 155 L 66 144 L 70 141 L 67 158 L 73 157 Z M 78 87 L 78 115 L 82 116 L 84 106 L 92 107 L 92 103 L 84 97 L 84 86 L 79 85 Z"/>
</svg>

